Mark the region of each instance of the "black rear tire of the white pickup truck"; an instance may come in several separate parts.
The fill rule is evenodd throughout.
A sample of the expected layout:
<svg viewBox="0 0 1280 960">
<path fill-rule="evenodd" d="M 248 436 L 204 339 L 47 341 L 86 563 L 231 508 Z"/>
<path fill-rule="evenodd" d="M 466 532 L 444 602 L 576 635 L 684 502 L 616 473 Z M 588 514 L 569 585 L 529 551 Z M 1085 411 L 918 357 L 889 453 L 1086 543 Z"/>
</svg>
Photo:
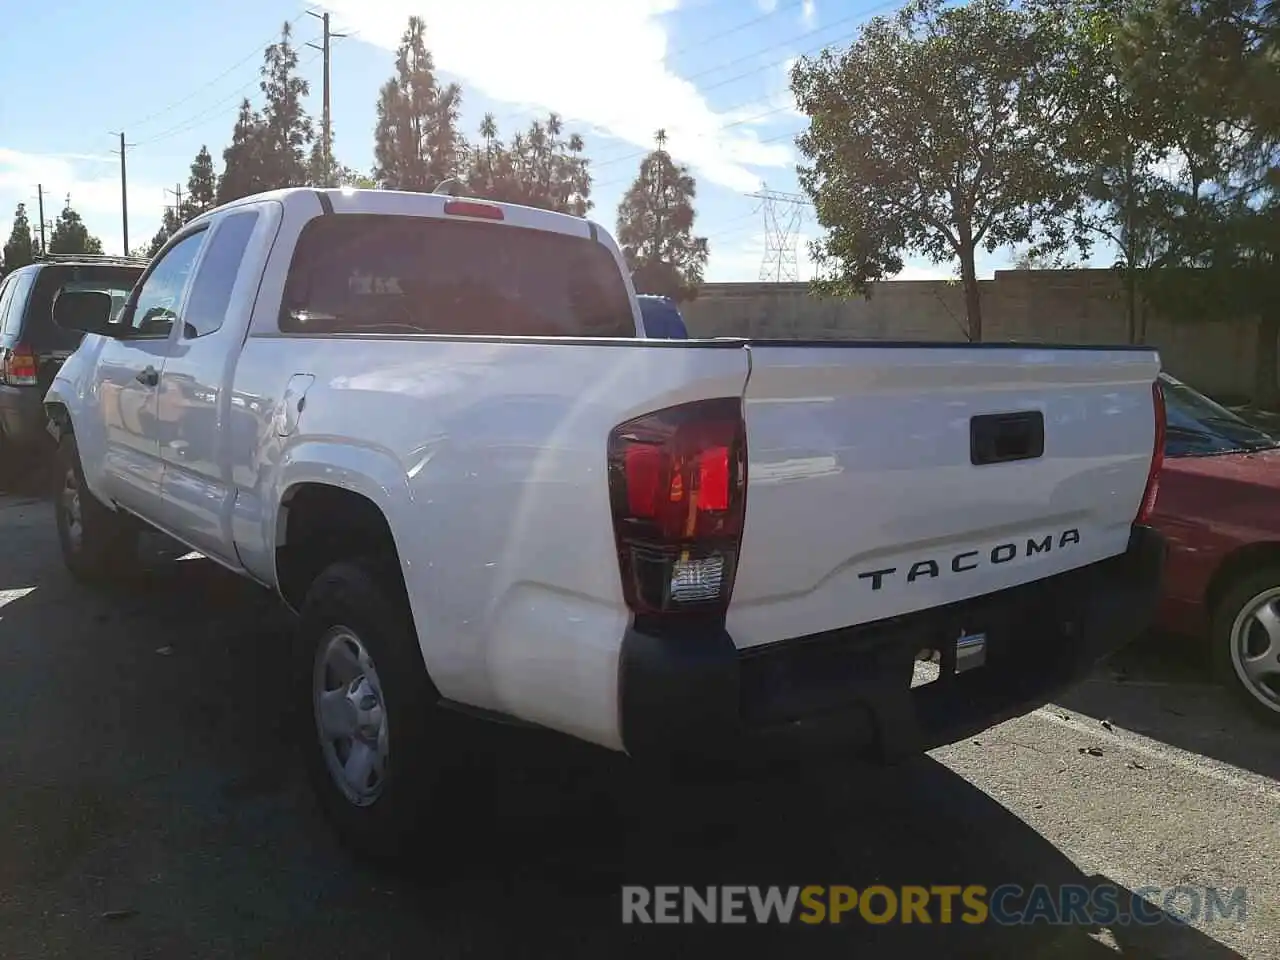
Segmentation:
<svg viewBox="0 0 1280 960">
<path fill-rule="evenodd" d="M 357 645 L 372 659 L 390 745 L 383 776 L 366 781 L 376 795 L 362 797 L 360 804 L 339 785 L 340 774 L 330 771 L 332 762 L 342 763 L 340 746 L 346 741 L 334 745 L 321 735 L 314 692 L 317 662 L 332 643 L 343 643 L 334 636 L 342 627 L 355 635 Z M 452 737 L 438 705 L 439 694 L 422 663 L 394 563 L 362 558 L 334 563 L 321 572 L 302 603 L 294 660 L 293 703 L 298 707 L 303 758 L 326 818 L 355 856 L 384 865 L 406 860 L 434 822 L 431 812 L 439 806 L 451 767 Z M 329 682 L 342 687 L 339 681 L 334 676 Z M 366 746 L 374 740 L 364 737 Z M 324 741 L 329 741 L 332 754 Z M 355 745 L 352 737 L 348 758 Z"/>
</svg>

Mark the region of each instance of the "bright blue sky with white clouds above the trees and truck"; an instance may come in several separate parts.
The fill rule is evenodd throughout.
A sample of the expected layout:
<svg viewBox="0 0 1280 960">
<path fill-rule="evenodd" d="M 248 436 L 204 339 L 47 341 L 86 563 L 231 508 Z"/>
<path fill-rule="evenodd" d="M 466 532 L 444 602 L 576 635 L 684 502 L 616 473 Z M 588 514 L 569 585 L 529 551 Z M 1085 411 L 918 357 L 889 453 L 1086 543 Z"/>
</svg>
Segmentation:
<svg viewBox="0 0 1280 960">
<path fill-rule="evenodd" d="M 4 5 L 19 0 L 0 0 Z M 883 0 L 54 0 L 23 4 L 22 29 L 0 37 L 0 232 L 22 202 L 37 221 L 37 184 L 51 221 L 70 196 L 106 252 L 123 250 L 122 131 L 128 232 L 145 247 L 192 157 L 207 145 L 221 170 L 242 97 L 261 104 L 264 47 L 294 28 L 308 109 L 320 115 L 321 23 L 332 14 L 334 156 L 372 166 L 378 90 L 411 14 L 426 22 L 442 79 L 462 86 L 461 127 L 481 116 L 511 133 L 548 110 L 579 132 L 593 160 L 591 216 L 613 229 L 622 193 L 654 132 L 698 180 L 695 230 L 710 243 L 708 282 L 760 279 L 765 216 L 750 195 L 799 193 L 795 109 L 787 70 L 799 56 L 847 45 Z M 32 42 L 44 37 L 45 42 Z M 774 207 L 799 279 L 819 236 L 808 206 Z M 1012 251 L 979 256 L 979 275 Z M 900 279 L 951 278 L 954 265 L 908 260 Z"/>
</svg>

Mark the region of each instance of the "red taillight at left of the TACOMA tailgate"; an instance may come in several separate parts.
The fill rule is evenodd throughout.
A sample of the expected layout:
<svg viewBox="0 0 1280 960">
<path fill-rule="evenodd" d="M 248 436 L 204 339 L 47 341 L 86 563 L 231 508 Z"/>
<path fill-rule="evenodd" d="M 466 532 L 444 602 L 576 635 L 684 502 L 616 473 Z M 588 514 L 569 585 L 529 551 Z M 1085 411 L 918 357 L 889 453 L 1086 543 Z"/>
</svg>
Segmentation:
<svg viewBox="0 0 1280 960">
<path fill-rule="evenodd" d="M 632 612 L 724 611 L 746 507 L 742 402 L 695 401 L 614 428 L 609 500 Z"/>
</svg>

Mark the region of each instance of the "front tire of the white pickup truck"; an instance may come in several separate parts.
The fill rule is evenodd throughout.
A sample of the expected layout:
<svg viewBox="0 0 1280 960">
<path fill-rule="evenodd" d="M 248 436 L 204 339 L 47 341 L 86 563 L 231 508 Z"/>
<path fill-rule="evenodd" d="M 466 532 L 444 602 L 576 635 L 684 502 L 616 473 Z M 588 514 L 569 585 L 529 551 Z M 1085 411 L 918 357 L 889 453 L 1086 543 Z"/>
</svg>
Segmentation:
<svg viewBox="0 0 1280 960">
<path fill-rule="evenodd" d="M 72 575 L 86 584 L 123 580 L 138 571 L 138 526 L 116 513 L 84 485 L 74 434 L 65 434 L 55 457 L 54 511 L 58 544 Z M 73 499 L 78 504 L 78 524 Z"/>
</svg>

